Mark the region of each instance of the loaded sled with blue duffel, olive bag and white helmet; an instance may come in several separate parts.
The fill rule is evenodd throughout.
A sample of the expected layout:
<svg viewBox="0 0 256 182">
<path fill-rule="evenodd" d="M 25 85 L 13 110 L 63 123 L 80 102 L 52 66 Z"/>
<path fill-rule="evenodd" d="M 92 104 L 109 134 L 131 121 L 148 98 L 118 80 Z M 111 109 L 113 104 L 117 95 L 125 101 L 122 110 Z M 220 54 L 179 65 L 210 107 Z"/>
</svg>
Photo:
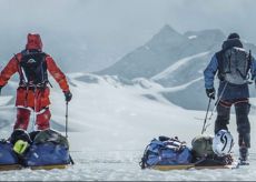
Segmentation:
<svg viewBox="0 0 256 182">
<path fill-rule="evenodd" d="M 234 143 L 232 138 L 229 141 L 229 136 L 228 132 L 220 132 L 220 135 L 216 134 L 215 138 L 196 136 L 191 141 L 191 149 L 187 146 L 186 142 L 179 141 L 177 136 L 159 136 L 152 139 L 146 146 L 139 164 L 141 169 L 160 171 L 237 169 L 239 163 L 230 152 Z"/>
</svg>

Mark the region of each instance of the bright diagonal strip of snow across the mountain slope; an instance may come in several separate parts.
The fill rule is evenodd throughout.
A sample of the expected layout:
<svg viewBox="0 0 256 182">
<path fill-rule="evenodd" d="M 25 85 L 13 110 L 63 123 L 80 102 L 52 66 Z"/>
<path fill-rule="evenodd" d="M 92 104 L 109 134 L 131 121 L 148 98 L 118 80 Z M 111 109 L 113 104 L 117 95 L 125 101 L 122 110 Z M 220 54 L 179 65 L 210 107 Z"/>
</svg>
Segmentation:
<svg viewBox="0 0 256 182">
<path fill-rule="evenodd" d="M 171 64 L 169 68 L 167 68 L 166 70 L 164 70 L 163 72 L 154 75 L 151 79 L 152 80 L 160 80 L 163 78 L 165 78 L 166 75 L 168 75 L 169 73 L 171 73 L 173 71 L 177 70 L 178 68 L 180 68 L 181 65 L 186 64 L 187 62 L 194 60 L 195 58 L 200 58 L 200 57 L 205 57 L 209 53 L 209 51 L 207 52 L 201 52 L 201 53 L 197 53 L 195 55 L 191 57 L 186 57 L 184 59 L 177 60 L 175 61 L 174 64 Z"/>
</svg>

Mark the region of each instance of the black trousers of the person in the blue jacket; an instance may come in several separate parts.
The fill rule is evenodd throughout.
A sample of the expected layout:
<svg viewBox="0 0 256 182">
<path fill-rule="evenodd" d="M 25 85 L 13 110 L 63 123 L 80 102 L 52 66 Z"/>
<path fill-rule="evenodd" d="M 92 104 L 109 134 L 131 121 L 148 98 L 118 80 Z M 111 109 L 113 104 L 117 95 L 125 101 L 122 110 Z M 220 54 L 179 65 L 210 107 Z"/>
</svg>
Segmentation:
<svg viewBox="0 0 256 182">
<path fill-rule="evenodd" d="M 250 104 L 248 100 L 220 101 L 217 105 L 217 119 L 215 121 L 215 133 L 219 130 L 228 130 L 230 108 L 235 105 L 236 124 L 239 146 L 250 148 L 250 124 L 248 120 Z"/>
</svg>

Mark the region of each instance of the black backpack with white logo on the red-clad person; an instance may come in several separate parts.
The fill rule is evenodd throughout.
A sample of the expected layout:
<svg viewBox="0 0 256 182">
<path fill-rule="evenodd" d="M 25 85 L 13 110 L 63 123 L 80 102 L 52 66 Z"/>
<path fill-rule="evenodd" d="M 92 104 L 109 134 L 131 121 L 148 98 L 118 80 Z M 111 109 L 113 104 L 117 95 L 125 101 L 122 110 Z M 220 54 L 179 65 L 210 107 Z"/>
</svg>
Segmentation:
<svg viewBox="0 0 256 182">
<path fill-rule="evenodd" d="M 45 88 L 48 81 L 47 54 L 45 52 L 22 52 L 19 62 L 20 85 Z"/>
</svg>

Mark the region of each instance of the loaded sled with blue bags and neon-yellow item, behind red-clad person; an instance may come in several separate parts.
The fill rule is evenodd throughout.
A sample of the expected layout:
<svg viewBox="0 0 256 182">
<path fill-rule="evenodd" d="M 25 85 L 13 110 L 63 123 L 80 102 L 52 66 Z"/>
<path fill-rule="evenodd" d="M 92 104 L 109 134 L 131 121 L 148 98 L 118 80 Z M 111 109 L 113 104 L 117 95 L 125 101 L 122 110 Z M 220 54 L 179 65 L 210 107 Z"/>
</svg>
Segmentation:
<svg viewBox="0 0 256 182">
<path fill-rule="evenodd" d="M 66 169 L 71 164 L 67 138 L 52 129 L 31 133 L 16 130 L 0 142 L 0 171 Z"/>
</svg>

